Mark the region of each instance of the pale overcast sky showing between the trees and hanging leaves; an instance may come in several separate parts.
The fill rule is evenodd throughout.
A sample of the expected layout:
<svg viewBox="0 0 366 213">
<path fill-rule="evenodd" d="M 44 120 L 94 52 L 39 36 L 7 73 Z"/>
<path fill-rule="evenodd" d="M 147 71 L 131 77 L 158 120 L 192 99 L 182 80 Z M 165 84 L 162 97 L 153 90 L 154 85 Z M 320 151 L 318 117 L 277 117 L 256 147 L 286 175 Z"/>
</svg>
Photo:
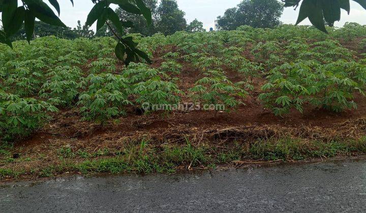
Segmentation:
<svg viewBox="0 0 366 213">
<path fill-rule="evenodd" d="M 60 0 L 61 15 L 60 19 L 69 27 L 75 27 L 77 20 L 81 23 L 86 21 L 86 16 L 90 9 L 93 8 L 93 3 L 90 0 L 74 0 L 72 7 L 69 0 Z M 206 29 L 214 27 L 216 17 L 223 15 L 228 8 L 235 7 L 240 0 L 177 0 L 179 8 L 186 13 L 187 22 L 191 22 L 195 18 L 203 22 Z M 281 17 L 281 21 L 286 24 L 294 24 L 298 15 L 293 8 L 286 8 Z M 340 22 L 335 22 L 335 26 L 343 26 L 345 22 L 357 22 L 366 24 L 366 11 L 357 3 L 351 1 L 351 14 L 342 10 Z M 309 20 L 304 20 L 301 24 L 310 24 Z"/>
</svg>

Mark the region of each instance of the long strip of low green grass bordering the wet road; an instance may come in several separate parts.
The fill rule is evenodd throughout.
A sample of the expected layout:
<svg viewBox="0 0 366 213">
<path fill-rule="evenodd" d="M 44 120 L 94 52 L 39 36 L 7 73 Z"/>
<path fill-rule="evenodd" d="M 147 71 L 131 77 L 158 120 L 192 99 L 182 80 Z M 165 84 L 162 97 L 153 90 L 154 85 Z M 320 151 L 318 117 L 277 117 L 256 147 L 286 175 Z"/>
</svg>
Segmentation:
<svg viewBox="0 0 366 213">
<path fill-rule="evenodd" d="M 22 174 L 51 177 L 65 172 L 84 174 L 108 172 L 171 173 L 177 169 L 200 167 L 215 169 L 217 164 L 231 163 L 237 160 L 301 160 L 318 157 L 334 157 L 339 154 L 366 154 L 366 137 L 359 140 L 339 140 L 324 143 L 300 138 L 258 139 L 252 144 L 231 146 L 193 146 L 185 145 L 156 146 L 143 140 L 131 142 L 121 150 L 102 149 L 93 153 L 85 150 L 72 151 L 69 148 L 57 150 L 58 161 L 29 171 L 17 171 L 0 168 L 0 179 L 17 178 Z M 23 161 L 32 159 L 24 158 Z M 81 160 L 81 161 L 80 161 Z M 3 161 L 4 162 L 4 161 Z M 18 162 L 18 161 L 17 161 Z M 9 161 L 11 163 L 11 161 Z"/>
</svg>

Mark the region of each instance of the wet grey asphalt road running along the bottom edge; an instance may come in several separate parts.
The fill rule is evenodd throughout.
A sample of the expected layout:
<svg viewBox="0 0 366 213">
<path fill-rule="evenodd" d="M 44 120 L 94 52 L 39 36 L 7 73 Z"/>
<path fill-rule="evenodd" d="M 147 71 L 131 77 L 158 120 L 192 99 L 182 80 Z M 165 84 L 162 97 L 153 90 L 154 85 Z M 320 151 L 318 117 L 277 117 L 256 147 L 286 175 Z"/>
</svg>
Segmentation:
<svg viewBox="0 0 366 213">
<path fill-rule="evenodd" d="M 366 161 L 0 186 L 0 212 L 365 212 Z"/>
</svg>

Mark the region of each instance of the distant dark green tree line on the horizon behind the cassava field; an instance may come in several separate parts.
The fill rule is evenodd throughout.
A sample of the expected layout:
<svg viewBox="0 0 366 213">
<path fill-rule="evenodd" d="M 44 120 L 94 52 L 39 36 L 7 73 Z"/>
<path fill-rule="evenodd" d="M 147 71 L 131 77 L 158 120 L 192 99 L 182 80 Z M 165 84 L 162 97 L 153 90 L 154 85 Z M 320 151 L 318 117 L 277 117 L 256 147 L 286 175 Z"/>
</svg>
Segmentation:
<svg viewBox="0 0 366 213">
<path fill-rule="evenodd" d="M 125 33 L 141 33 L 149 36 L 155 33 L 163 33 L 170 35 L 176 31 L 187 32 L 202 32 L 206 31 L 203 28 L 203 23 L 195 19 L 187 24 L 185 12 L 178 7 L 176 0 L 161 0 L 158 5 L 158 0 L 143 0 L 148 8 L 151 9 L 153 16 L 153 24 L 147 25 L 145 18 L 142 15 L 127 13 L 121 8 L 115 10 L 116 14 L 122 21 L 131 21 L 133 27 L 125 28 Z M 227 9 L 223 16 L 218 17 L 217 29 L 233 30 L 241 25 L 249 25 L 252 27 L 275 27 L 280 22 L 280 17 L 283 12 L 283 3 L 277 0 L 244 0 L 237 7 Z M 104 25 L 100 30 L 94 32 L 87 25 L 77 22 L 76 28 L 64 28 L 48 25 L 42 21 L 35 22 L 35 37 L 44 37 L 47 35 L 55 35 L 64 39 L 76 38 L 94 38 L 113 36 L 113 33 Z M 24 26 L 15 34 L 14 39 L 25 39 Z"/>
</svg>

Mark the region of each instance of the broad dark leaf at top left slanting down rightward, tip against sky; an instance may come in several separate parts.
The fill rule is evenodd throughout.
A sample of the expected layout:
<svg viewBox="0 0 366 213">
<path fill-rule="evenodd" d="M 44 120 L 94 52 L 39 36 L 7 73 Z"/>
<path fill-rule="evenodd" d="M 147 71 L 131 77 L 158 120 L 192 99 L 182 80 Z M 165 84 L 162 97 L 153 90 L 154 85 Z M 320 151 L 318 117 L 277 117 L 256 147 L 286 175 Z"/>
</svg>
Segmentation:
<svg viewBox="0 0 366 213">
<path fill-rule="evenodd" d="M 53 25 L 66 27 L 66 25 L 53 13 L 52 9 L 41 0 L 24 0 L 29 10 L 41 21 Z"/>
</svg>

